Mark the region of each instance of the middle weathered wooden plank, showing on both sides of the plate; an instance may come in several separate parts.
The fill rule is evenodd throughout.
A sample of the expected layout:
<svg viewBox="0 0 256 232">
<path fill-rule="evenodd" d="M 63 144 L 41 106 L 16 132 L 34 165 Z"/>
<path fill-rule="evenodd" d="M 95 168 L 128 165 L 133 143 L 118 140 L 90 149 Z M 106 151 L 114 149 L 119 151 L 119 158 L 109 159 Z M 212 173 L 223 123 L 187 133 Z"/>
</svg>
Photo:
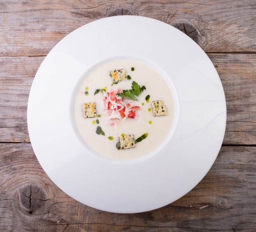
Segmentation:
<svg viewBox="0 0 256 232">
<path fill-rule="evenodd" d="M 209 54 L 227 101 L 224 144 L 256 144 L 255 54 Z M 42 56 L 0 57 L 0 142 L 29 142 L 26 109 Z"/>
</svg>

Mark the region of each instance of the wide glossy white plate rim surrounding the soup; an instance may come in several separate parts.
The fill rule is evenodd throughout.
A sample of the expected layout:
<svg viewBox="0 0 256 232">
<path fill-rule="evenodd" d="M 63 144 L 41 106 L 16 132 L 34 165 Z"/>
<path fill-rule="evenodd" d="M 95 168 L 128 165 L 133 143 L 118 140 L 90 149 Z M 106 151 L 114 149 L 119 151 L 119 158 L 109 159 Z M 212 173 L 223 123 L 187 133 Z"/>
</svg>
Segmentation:
<svg viewBox="0 0 256 232">
<path fill-rule="evenodd" d="M 91 154 L 74 130 L 74 88 L 91 67 L 117 57 L 154 64 L 174 88 L 176 126 L 144 159 Z M 109 212 L 153 210 L 189 192 L 216 159 L 225 124 L 223 87 L 204 51 L 178 29 L 138 16 L 96 20 L 67 35 L 38 69 L 28 101 L 29 137 L 44 171 L 69 196 Z"/>
</svg>

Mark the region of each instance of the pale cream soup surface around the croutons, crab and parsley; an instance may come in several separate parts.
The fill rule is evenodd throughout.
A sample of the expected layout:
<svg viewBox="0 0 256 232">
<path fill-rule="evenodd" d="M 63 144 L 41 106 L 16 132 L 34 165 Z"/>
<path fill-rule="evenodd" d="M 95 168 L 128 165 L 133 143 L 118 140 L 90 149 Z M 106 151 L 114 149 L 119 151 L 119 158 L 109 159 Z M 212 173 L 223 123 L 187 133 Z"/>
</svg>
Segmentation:
<svg viewBox="0 0 256 232">
<path fill-rule="evenodd" d="M 109 75 L 115 69 L 124 69 L 126 72 L 125 80 L 118 84 L 112 84 L 112 77 Z M 127 78 L 128 75 L 130 79 Z M 135 96 L 138 101 L 123 97 L 122 100 L 126 104 L 131 102 L 132 105 L 140 107 L 135 110 L 135 118 L 111 120 L 104 97 L 111 90 L 130 90 L 133 81 L 140 87 L 144 85 L 145 89 L 139 96 Z M 95 94 L 97 89 L 101 91 Z M 148 95 L 150 97 L 146 101 Z M 157 100 L 164 102 L 167 115 L 153 116 L 152 102 Z M 87 102 L 96 103 L 97 117 L 84 118 L 82 105 Z M 111 159 L 134 159 L 152 152 L 170 131 L 173 111 L 173 97 L 167 82 L 156 70 L 137 60 L 114 60 L 97 66 L 84 77 L 74 101 L 74 119 L 81 137 L 93 150 Z M 105 135 L 96 133 L 99 126 Z M 121 150 L 116 148 L 122 134 L 134 135 L 137 139 L 145 133 L 147 137 L 137 142 L 135 147 Z"/>
</svg>

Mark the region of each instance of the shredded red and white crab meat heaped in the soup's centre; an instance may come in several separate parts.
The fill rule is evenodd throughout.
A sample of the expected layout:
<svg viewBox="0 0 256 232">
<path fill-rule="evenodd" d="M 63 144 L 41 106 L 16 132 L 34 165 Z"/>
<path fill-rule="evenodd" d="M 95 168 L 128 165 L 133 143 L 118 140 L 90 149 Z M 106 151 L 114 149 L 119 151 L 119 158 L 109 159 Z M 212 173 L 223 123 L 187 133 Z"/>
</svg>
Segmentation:
<svg viewBox="0 0 256 232">
<path fill-rule="evenodd" d="M 135 118 L 136 111 L 140 109 L 139 106 L 135 105 L 135 102 L 128 99 L 122 99 L 118 96 L 121 90 L 119 88 L 116 91 L 111 90 L 109 92 L 104 92 L 104 109 L 108 111 L 109 120 L 111 120 L 110 125 L 114 125 L 113 121 L 119 124 L 126 118 Z M 140 117 L 140 113 L 137 114 Z"/>
</svg>

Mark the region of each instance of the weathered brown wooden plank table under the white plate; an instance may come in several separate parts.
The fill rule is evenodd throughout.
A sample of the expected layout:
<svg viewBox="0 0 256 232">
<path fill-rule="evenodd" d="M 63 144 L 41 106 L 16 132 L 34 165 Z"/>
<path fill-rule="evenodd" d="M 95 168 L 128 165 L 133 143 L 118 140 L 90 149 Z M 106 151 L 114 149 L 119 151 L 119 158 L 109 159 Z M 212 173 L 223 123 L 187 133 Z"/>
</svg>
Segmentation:
<svg viewBox="0 0 256 232">
<path fill-rule="evenodd" d="M 208 54 L 227 100 L 225 138 L 211 170 L 179 200 L 145 213 L 107 213 L 73 200 L 29 143 L 28 95 L 41 62 L 69 32 L 113 15 L 178 27 Z M 255 0 L 2 0 L 0 231 L 256 231 L 255 17 Z"/>
</svg>

